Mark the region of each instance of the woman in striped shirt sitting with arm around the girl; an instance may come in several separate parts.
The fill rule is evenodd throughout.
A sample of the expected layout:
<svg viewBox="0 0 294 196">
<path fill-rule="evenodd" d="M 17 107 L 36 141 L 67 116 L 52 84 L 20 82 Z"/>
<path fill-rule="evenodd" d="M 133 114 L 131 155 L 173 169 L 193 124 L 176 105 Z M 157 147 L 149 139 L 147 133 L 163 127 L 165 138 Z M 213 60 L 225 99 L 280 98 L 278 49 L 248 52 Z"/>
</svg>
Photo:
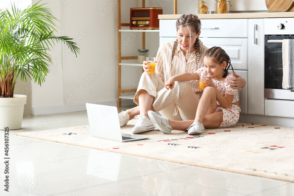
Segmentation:
<svg viewBox="0 0 294 196">
<path fill-rule="evenodd" d="M 180 73 L 193 73 L 204 66 L 203 57 L 208 48 L 203 46 L 200 36 L 201 22 L 194 14 L 180 16 L 176 21 L 177 40 L 163 43 L 157 52 L 156 73 L 143 73 L 138 84 L 134 102 L 135 108 L 122 111 L 118 117 L 120 125 L 136 117 L 134 134 L 154 129 L 148 110 L 159 112 L 171 120 L 193 120 L 199 103 L 198 81 L 179 81 L 172 90 L 164 83 Z M 149 71 L 148 62 L 143 62 L 145 72 Z M 245 80 L 238 75 L 230 81 L 232 88 L 243 88 Z"/>
</svg>

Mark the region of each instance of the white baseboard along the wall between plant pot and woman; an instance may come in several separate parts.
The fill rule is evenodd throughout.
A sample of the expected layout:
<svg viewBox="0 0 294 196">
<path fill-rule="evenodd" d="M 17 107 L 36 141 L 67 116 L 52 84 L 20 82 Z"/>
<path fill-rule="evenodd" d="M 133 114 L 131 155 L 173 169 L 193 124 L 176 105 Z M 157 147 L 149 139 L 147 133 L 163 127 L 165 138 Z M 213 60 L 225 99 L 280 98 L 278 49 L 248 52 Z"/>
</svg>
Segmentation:
<svg viewBox="0 0 294 196">
<path fill-rule="evenodd" d="M 100 105 L 111 105 L 117 107 L 117 100 L 111 101 L 103 101 L 103 102 L 96 102 L 94 104 Z M 135 103 L 133 100 L 129 99 L 122 99 L 121 106 L 128 106 L 134 105 Z M 74 103 L 74 104 L 66 104 L 66 105 L 52 105 L 52 106 L 39 106 L 39 107 L 32 107 L 32 114 L 36 115 L 45 115 L 45 114 L 56 114 L 56 113 L 66 113 L 66 112 L 78 112 L 78 111 L 85 111 L 86 110 L 86 103 Z"/>
</svg>

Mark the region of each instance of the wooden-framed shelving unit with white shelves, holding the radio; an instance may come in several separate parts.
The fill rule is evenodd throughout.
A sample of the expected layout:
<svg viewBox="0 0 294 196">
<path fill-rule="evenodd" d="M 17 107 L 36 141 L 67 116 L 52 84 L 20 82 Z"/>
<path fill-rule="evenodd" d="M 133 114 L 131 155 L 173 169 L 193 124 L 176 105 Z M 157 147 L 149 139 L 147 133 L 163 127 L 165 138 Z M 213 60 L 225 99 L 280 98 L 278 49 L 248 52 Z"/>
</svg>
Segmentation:
<svg viewBox="0 0 294 196">
<path fill-rule="evenodd" d="M 145 7 L 145 0 L 142 0 L 142 7 Z M 177 14 L 177 0 L 174 0 L 174 14 Z M 145 33 L 159 32 L 157 29 L 121 29 L 122 26 L 130 26 L 130 23 L 121 23 L 121 0 L 117 4 L 117 40 L 118 40 L 118 107 L 121 107 L 121 99 L 133 99 L 137 91 L 134 89 L 121 89 L 121 66 L 142 66 L 137 63 L 138 56 L 121 56 L 121 32 L 141 32 L 142 33 L 142 48 L 145 49 Z M 123 61 L 123 62 L 122 62 Z M 143 68 L 142 68 L 143 69 Z M 129 93 L 127 96 L 121 96 L 122 93 Z"/>
</svg>

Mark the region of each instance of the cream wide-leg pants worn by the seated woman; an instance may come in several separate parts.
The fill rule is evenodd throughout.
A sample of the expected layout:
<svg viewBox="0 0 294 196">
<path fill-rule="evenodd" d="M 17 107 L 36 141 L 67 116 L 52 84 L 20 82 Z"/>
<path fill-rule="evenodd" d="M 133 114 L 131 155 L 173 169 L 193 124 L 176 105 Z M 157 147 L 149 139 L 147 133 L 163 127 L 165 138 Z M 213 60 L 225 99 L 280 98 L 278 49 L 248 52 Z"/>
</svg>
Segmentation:
<svg viewBox="0 0 294 196">
<path fill-rule="evenodd" d="M 186 82 L 175 82 L 174 88 L 168 90 L 157 73 L 147 75 L 144 72 L 134 98 L 137 105 L 139 105 L 138 92 L 140 90 L 147 91 L 155 98 L 153 108 L 163 117 L 171 120 L 195 119 L 199 98 Z"/>
</svg>

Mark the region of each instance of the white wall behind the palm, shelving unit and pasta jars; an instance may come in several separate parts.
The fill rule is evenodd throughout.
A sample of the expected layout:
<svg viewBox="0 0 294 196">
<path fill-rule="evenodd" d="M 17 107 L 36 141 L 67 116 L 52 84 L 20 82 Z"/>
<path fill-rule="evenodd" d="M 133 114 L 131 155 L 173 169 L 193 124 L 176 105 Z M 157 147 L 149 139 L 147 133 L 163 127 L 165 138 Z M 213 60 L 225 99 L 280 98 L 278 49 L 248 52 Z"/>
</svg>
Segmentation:
<svg viewBox="0 0 294 196">
<path fill-rule="evenodd" d="M 33 0 L 37 2 L 38 0 Z M 256 10 L 253 4 L 263 0 L 238 1 L 240 6 L 231 0 L 235 10 L 244 8 Z M 117 103 L 117 5 L 115 0 L 43 0 L 46 7 L 52 9 L 61 23 L 57 36 L 74 38 L 81 49 L 76 58 L 61 44 L 56 44 L 51 53 L 53 64 L 51 72 L 41 87 L 34 82 L 16 85 L 15 94 L 26 94 L 28 105 L 25 115 L 48 114 L 85 110 L 85 103 L 116 105 Z M 242 5 L 241 5 L 242 4 Z M 141 0 L 122 0 L 122 22 L 129 22 L 131 7 L 140 7 Z M 163 7 L 163 14 L 173 14 L 173 0 L 146 0 L 146 7 Z M 241 8 L 240 8 L 241 7 Z M 178 14 L 197 14 L 198 1 L 178 0 Z M 122 33 L 122 41 L 131 38 L 122 49 L 123 56 L 136 56 L 142 47 L 141 33 L 136 36 Z M 150 56 L 155 56 L 158 33 L 146 33 L 146 48 Z M 126 42 L 125 42 L 126 43 Z M 136 88 L 142 68 L 123 66 L 122 88 Z M 129 105 L 131 100 L 122 100 Z M 32 110 L 32 112 L 31 112 Z"/>
</svg>

